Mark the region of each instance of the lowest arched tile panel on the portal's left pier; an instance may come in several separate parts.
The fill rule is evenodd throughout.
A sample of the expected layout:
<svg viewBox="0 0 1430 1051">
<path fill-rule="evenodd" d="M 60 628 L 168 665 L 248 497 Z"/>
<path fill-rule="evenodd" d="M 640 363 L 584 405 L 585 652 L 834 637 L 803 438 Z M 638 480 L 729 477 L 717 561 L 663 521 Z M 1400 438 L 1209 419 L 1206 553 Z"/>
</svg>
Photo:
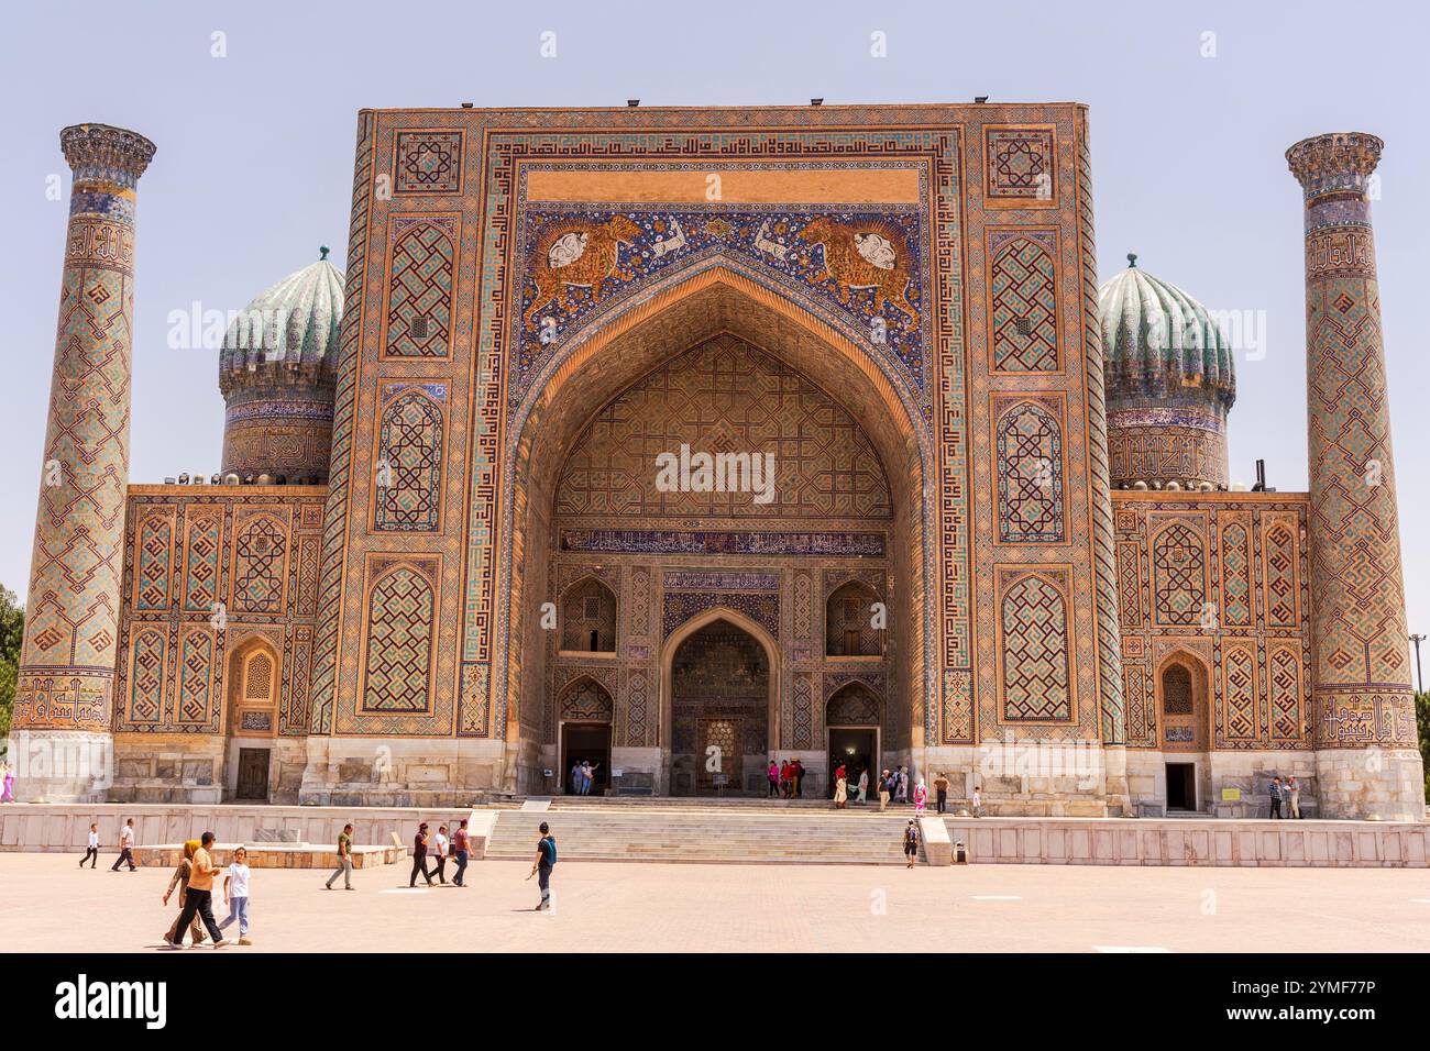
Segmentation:
<svg viewBox="0 0 1430 1051">
<path fill-rule="evenodd" d="M 398 566 L 378 581 L 368 603 L 363 711 L 420 712 L 428 708 L 432 625 L 432 585 L 425 576 Z"/>
</svg>

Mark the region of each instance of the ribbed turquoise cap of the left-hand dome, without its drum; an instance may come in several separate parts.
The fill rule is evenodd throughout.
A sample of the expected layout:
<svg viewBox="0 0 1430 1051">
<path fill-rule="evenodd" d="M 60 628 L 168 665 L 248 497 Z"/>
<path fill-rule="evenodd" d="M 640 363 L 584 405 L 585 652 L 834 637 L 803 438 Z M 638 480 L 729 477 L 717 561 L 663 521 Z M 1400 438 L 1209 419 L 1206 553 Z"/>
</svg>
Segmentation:
<svg viewBox="0 0 1430 1051">
<path fill-rule="evenodd" d="M 343 272 L 323 257 L 269 286 L 223 336 L 219 389 L 227 395 L 243 376 L 332 372 L 343 319 Z"/>
</svg>

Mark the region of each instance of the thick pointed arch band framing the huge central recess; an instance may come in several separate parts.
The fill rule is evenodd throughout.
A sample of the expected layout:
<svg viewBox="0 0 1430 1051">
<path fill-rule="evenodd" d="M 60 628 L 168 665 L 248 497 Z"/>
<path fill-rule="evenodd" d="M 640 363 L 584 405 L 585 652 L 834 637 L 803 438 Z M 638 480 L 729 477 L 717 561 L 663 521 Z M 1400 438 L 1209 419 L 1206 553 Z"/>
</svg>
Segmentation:
<svg viewBox="0 0 1430 1051">
<path fill-rule="evenodd" d="M 922 699 L 931 695 L 932 603 L 924 601 L 925 581 L 932 579 L 932 538 L 928 478 L 931 463 L 927 435 L 914 409 L 895 392 L 869 350 L 852 345 L 798 302 L 769 293 L 739 273 L 706 269 L 688 282 L 608 315 L 599 332 L 568 343 L 565 357 L 553 362 L 545 383 L 513 413 L 506 443 L 506 478 L 511 479 L 503 532 L 512 548 L 499 572 L 509 595 L 509 638 L 498 636 L 498 679 L 509 709 L 516 714 L 545 704 L 541 662 L 543 633 L 541 596 L 549 593 L 548 566 L 532 552 L 549 549 L 553 536 L 556 479 L 566 453 L 595 413 L 616 393 L 649 373 L 661 362 L 714 336 L 731 335 L 789 367 L 825 390 L 838 390 L 839 402 L 868 435 L 884 470 L 899 483 L 894 492 L 888 562 L 891 638 L 885 646 L 898 696 L 911 699 L 901 714 L 904 745 L 921 734 Z M 602 353 L 605 352 L 605 353 Z M 500 593 L 502 588 L 498 588 Z M 882 589 L 881 589 L 882 591 Z M 897 595 L 897 598 L 894 598 Z M 526 598 L 531 596 L 531 598 Z M 511 672 L 506 669 L 511 668 Z M 658 678 L 665 678 L 658 672 Z M 661 684 L 662 691 L 666 684 Z M 649 684 L 652 692 L 656 684 Z M 664 705 L 664 701 L 662 701 Z M 776 714 L 778 718 L 778 714 Z M 521 725 L 532 718 L 511 718 L 508 739 L 521 738 Z M 659 731 L 668 732 L 668 724 Z M 652 742 L 654 744 L 654 742 Z M 668 739 L 661 745 L 669 748 Z M 815 742 L 809 746 L 817 748 Z"/>
</svg>

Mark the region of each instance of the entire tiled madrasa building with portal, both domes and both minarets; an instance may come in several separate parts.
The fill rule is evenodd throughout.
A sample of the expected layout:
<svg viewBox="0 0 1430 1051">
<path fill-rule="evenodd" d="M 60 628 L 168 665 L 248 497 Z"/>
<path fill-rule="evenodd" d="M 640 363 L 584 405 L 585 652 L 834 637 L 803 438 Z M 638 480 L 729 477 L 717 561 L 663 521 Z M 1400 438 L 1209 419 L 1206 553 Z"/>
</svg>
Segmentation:
<svg viewBox="0 0 1430 1051">
<path fill-rule="evenodd" d="M 154 146 L 61 147 L 14 729 L 113 766 L 23 796 L 452 804 L 579 758 L 764 794 L 799 758 L 1005 815 L 1256 815 L 1294 775 L 1423 818 L 1374 136 L 1287 152 L 1308 492 L 1230 485 L 1203 305 L 1098 286 L 1080 104 L 362 110 L 346 273 L 237 313 L 223 463 L 162 485 Z"/>
</svg>

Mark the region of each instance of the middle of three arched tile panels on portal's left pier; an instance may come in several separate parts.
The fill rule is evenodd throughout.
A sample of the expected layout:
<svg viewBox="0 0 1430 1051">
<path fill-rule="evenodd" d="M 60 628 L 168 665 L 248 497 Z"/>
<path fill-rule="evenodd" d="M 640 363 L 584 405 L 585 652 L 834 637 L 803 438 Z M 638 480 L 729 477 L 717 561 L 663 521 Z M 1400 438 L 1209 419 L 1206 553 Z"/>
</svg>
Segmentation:
<svg viewBox="0 0 1430 1051">
<path fill-rule="evenodd" d="M 373 528 L 435 532 L 442 505 L 442 409 L 422 389 L 405 390 L 383 409 L 379 435 Z"/>
</svg>

